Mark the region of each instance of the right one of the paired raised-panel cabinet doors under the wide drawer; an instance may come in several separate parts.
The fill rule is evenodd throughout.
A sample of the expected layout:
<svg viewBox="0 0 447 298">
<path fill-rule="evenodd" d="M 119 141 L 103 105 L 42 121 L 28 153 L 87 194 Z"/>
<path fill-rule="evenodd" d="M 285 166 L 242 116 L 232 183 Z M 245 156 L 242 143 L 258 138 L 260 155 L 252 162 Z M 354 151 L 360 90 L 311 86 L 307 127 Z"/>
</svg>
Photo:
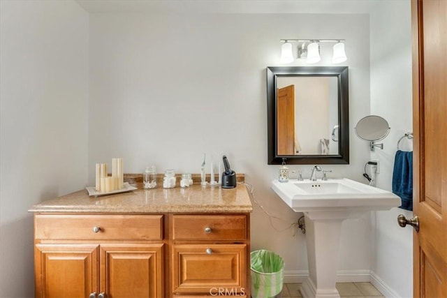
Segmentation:
<svg viewBox="0 0 447 298">
<path fill-rule="evenodd" d="M 163 244 L 101 244 L 106 297 L 163 297 L 163 276 Z"/>
</svg>

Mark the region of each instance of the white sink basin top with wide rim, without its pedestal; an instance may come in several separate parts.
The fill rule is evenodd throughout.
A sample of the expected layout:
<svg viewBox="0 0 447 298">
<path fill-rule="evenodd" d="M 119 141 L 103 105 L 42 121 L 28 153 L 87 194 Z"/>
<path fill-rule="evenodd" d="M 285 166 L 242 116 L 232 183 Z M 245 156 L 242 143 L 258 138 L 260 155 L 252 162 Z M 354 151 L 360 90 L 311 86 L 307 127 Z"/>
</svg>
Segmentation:
<svg viewBox="0 0 447 298">
<path fill-rule="evenodd" d="M 346 178 L 285 183 L 274 180 L 272 188 L 296 212 L 388 210 L 401 204 L 390 191 Z"/>
</svg>

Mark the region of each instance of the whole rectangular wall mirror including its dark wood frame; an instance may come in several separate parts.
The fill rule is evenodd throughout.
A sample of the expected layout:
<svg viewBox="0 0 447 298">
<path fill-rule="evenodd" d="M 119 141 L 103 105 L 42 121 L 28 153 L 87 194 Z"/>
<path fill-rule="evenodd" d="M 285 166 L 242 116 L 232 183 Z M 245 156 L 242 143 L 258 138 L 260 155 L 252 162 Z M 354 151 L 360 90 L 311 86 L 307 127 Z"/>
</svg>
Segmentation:
<svg viewBox="0 0 447 298">
<path fill-rule="evenodd" d="M 349 163 L 347 66 L 267 68 L 268 164 Z"/>
</svg>

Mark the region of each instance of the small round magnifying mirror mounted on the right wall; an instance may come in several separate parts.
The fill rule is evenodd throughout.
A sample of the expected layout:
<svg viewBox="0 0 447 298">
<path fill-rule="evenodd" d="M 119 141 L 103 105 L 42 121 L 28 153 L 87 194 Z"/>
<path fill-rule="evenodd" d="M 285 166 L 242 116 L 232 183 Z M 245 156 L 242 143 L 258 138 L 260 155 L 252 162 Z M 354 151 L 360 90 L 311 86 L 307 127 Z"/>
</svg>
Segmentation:
<svg viewBox="0 0 447 298">
<path fill-rule="evenodd" d="M 360 119 L 356 126 L 356 134 L 366 141 L 382 140 L 390 133 L 388 122 L 380 116 L 367 116 Z"/>
</svg>

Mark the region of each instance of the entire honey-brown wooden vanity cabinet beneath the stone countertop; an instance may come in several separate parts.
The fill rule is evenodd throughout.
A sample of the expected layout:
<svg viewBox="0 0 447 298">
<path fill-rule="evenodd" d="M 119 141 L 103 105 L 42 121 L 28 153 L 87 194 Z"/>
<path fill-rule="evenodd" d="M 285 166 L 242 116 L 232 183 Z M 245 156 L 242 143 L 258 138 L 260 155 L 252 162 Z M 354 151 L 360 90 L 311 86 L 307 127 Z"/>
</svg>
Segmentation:
<svg viewBox="0 0 447 298">
<path fill-rule="evenodd" d="M 36 297 L 250 297 L 249 214 L 34 215 Z"/>
</svg>

